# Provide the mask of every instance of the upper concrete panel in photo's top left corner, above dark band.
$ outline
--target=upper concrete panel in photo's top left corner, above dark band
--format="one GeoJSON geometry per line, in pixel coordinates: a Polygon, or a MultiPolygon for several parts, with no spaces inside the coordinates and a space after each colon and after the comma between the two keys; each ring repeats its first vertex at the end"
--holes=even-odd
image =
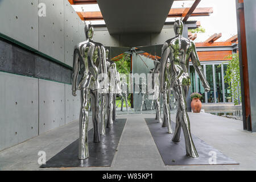
{"type": "Polygon", "coordinates": [[[1,0],[0,32],[38,49],[38,0],[1,0]]]}

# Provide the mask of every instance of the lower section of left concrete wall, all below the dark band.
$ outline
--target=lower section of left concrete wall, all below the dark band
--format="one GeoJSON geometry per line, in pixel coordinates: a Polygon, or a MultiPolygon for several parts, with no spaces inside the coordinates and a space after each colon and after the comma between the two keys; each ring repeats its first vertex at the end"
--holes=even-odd
{"type": "Polygon", "coordinates": [[[0,72],[0,150],[79,118],[71,85],[0,72]]]}

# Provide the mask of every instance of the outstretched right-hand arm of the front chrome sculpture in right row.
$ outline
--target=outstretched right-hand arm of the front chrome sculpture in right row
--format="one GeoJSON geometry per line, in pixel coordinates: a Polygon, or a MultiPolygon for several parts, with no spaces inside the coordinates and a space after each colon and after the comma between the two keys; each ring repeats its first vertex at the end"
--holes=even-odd
{"type": "Polygon", "coordinates": [[[192,41],[191,41],[191,48],[192,48],[191,60],[192,60],[193,67],[195,68],[197,74],[199,75],[199,78],[204,86],[205,92],[209,92],[210,86],[208,84],[207,79],[204,76],[203,68],[201,67],[200,60],[196,52],[195,43],[193,43],[192,41]]]}

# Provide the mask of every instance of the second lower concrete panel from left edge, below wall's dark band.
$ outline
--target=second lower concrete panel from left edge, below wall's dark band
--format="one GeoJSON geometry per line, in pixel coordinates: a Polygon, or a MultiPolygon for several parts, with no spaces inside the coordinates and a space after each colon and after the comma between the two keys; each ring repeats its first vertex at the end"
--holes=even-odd
{"type": "Polygon", "coordinates": [[[64,85],[39,79],[39,134],[65,124],[64,85]]]}

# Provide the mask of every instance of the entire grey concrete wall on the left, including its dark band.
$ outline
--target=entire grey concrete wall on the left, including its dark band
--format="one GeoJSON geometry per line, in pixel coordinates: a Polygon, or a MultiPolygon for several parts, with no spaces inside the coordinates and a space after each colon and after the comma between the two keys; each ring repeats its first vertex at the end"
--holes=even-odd
{"type": "Polygon", "coordinates": [[[68,0],[0,0],[0,25],[4,150],[79,118],[80,96],[68,83],[73,49],[85,35],[68,0]],[[46,16],[39,16],[44,5],[46,16]]]}

